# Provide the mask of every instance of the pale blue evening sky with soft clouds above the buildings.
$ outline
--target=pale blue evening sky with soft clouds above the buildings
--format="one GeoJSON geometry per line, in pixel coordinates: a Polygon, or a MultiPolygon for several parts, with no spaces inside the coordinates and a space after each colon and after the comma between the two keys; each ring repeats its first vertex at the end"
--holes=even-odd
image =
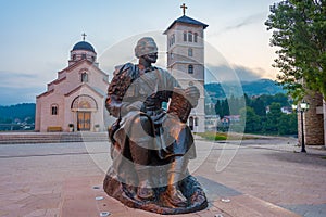
{"type": "MultiPolygon", "coordinates": [[[[0,0],[0,105],[35,102],[57,72],[67,66],[70,51],[83,33],[96,49],[100,68],[109,75],[113,64],[128,61],[116,52],[112,55],[124,41],[133,44],[140,36],[161,37],[159,49],[164,53],[162,34],[183,15],[183,3],[188,7],[187,16],[209,25],[205,42],[241,80],[276,79],[272,33],[264,25],[276,1],[0,0]]],[[[211,58],[205,56],[206,64],[218,67],[211,58]]]]}

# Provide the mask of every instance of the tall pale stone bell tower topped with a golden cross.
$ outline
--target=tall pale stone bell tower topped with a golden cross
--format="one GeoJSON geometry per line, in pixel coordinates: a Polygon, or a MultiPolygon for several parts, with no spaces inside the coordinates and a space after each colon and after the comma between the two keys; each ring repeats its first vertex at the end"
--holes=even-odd
{"type": "Polygon", "coordinates": [[[191,110],[188,125],[195,132],[205,130],[204,114],[204,23],[184,15],[175,20],[164,31],[167,36],[167,69],[183,88],[196,86],[200,91],[197,107],[191,110]]]}

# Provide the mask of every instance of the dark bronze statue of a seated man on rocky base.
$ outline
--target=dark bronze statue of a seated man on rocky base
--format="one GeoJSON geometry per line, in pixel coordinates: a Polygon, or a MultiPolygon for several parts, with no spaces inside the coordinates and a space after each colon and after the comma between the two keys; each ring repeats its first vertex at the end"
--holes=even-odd
{"type": "Polygon", "coordinates": [[[205,194],[187,169],[196,150],[186,122],[199,90],[181,89],[168,72],[152,66],[158,59],[152,38],[141,38],[135,54],[138,64],[117,66],[108,89],[105,106],[116,122],[109,127],[113,164],[103,188],[125,205],[145,210],[203,209],[205,194]]]}

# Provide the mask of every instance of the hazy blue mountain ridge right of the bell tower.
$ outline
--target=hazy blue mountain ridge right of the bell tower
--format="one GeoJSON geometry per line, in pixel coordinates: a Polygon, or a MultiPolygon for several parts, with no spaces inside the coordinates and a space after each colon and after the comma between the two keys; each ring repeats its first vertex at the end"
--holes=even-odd
{"type": "Polygon", "coordinates": [[[212,82],[205,85],[206,97],[212,100],[226,98],[226,95],[239,97],[239,94],[246,93],[249,97],[285,93],[286,91],[271,79],[259,79],[253,81],[242,81],[241,87],[233,82],[212,82]]]}

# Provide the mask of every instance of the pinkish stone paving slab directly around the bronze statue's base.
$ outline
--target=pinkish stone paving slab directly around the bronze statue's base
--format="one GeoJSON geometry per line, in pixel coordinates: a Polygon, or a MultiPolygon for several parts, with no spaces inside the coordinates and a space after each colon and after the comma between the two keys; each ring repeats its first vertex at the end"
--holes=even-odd
{"type": "MultiPolygon", "coordinates": [[[[203,178],[201,178],[203,179],[203,178]]],[[[112,217],[125,216],[162,216],[140,209],[129,208],[115,199],[105,194],[101,183],[102,177],[75,177],[70,178],[64,183],[63,203],[60,216],[100,216],[102,212],[109,212],[112,217]],[[93,187],[99,187],[95,189],[93,187]],[[97,200],[101,199],[102,200],[97,200]]],[[[215,182],[216,183],[216,182],[215,182]]],[[[241,194],[236,190],[228,189],[223,184],[206,186],[206,194],[209,197],[209,207],[204,210],[184,214],[184,215],[168,215],[168,216],[189,216],[189,217],[298,217],[299,215],[291,213],[283,207],[276,206],[272,203],[262,201],[252,195],[241,194]],[[213,189],[214,188],[214,189],[213,189]],[[227,189],[227,190],[226,190],[227,189]],[[216,192],[222,192],[216,195],[216,192]],[[225,197],[226,195],[229,195],[225,197]],[[217,197],[218,199],[217,199],[217,197]],[[212,200],[212,197],[215,197],[212,200]]]]}

